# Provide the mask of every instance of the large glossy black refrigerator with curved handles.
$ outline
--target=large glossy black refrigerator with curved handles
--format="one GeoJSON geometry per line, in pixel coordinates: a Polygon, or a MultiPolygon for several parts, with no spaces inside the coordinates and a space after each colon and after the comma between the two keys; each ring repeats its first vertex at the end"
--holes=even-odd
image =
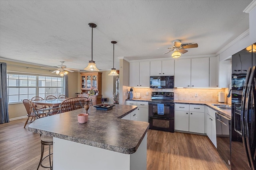
{"type": "Polygon", "coordinates": [[[256,43],[232,55],[232,170],[256,170],[255,84],[256,43]]]}

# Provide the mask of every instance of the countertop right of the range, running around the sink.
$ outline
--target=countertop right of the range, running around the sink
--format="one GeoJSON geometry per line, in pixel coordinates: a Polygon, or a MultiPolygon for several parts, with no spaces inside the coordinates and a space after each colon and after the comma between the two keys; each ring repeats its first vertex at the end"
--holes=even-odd
{"type": "Polygon", "coordinates": [[[211,109],[214,109],[215,111],[217,111],[218,113],[220,113],[221,115],[224,115],[226,117],[228,117],[229,119],[231,119],[231,110],[223,110],[223,109],[219,109],[216,106],[212,106],[212,104],[224,104],[224,105],[231,105],[228,103],[220,103],[220,102],[199,102],[199,101],[183,101],[183,100],[175,100],[174,101],[177,104],[198,104],[198,105],[206,105],[208,107],[210,107],[211,109]]]}

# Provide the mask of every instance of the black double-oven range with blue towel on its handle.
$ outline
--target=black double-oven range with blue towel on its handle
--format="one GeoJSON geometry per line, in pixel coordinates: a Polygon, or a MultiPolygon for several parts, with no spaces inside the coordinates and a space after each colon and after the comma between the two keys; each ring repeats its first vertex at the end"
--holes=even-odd
{"type": "Polygon", "coordinates": [[[148,122],[150,129],[174,132],[174,92],[152,92],[148,122]]]}

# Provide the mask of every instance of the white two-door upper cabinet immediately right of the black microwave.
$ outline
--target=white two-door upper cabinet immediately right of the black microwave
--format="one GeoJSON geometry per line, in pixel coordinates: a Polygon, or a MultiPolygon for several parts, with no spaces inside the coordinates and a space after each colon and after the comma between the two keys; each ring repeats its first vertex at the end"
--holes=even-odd
{"type": "Polygon", "coordinates": [[[209,87],[209,58],[175,61],[174,87],[209,87]]]}

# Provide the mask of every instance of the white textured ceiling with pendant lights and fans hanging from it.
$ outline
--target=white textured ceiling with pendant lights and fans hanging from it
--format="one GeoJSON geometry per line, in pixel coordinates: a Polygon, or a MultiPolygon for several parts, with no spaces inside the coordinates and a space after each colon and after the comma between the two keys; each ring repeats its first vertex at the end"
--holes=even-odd
{"type": "Polygon", "coordinates": [[[216,54],[249,29],[252,0],[1,0],[0,57],[83,70],[91,60],[110,70],[115,45],[128,60],[169,58],[180,39],[198,43],[182,57],[216,54]],[[158,49],[160,48],[160,49],[158,49]]]}

